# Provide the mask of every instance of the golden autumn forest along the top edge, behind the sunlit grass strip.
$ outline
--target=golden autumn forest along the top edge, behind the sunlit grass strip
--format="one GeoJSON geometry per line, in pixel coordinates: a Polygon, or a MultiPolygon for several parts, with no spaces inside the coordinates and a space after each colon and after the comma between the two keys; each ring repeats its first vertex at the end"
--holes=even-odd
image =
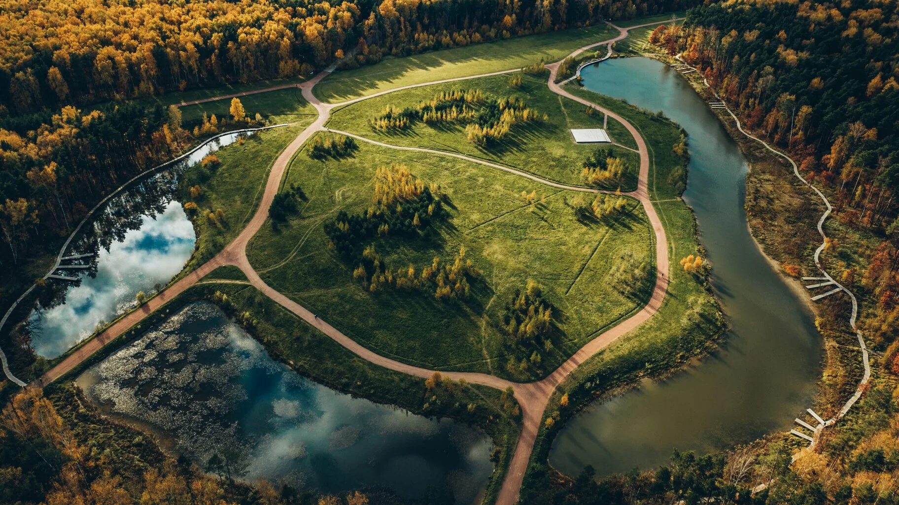
{"type": "Polygon", "coordinates": [[[0,106],[147,96],[311,75],[430,49],[554,31],[696,4],[693,0],[204,0],[0,3],[0,106]]]}

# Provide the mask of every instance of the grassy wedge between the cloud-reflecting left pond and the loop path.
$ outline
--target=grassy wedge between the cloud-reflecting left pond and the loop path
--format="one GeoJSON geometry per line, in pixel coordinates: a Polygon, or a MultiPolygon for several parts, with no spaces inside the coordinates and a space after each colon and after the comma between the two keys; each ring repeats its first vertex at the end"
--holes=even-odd
{"type": "Polygon", "coordinates": [[[178,186],[182,202],[196,203],[199,212],[191,217],[197,229],[196,251],[183,271],[209,261],[244,229],[262,198],[271,164],[303,128],[300,123],[263,130],[246,137],[243,145],[238,142],[215,153],[221,162],[218,169],[197,165],[184,173],[178,186]],[[196,198],[190,193],[194,185],[201,189],[196,198]],[[206,215],[219,208],[224,218],[216,224],[206,215]]]}

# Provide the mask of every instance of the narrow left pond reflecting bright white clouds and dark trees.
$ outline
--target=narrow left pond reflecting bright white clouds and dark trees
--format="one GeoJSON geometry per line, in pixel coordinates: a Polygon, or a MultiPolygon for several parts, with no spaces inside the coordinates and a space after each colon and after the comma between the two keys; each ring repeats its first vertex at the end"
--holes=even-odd
{"type": "Polygon", "coordinates": [[[74,261],[81,269],[54,273],[77,278],[49,279],[53,292],[29,316],[31,345],[44,358],[56,358],[168,284],[191,258],[196,235],[175,199],[178,175],[206,155],[246,133],[210,139],[190,155],[135,182],[94,213],[65,255],[93,254],[74,261]]]}

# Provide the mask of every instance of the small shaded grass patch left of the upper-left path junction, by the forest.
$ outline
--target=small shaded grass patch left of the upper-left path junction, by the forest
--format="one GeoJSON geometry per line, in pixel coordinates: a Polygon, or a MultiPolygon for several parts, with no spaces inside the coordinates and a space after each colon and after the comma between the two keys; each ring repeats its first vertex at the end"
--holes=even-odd
{"type": "MultiPolygon", "coordinates": [[[[312,122],[316,118],[316,108],[303,99],[298,88],[250,94],[240,97],[240,102],[244,104],[247,116],[252,118],[258,113],[263,119],[269,120],[270,124],[303,120],[312,122]]],[[[198,123],[203,112],[208,116],[215,114],[218,119],[227,118],[230,107],[230,99],[185,105],[181,108],[182,120],[188,126],[198,123]]]]}

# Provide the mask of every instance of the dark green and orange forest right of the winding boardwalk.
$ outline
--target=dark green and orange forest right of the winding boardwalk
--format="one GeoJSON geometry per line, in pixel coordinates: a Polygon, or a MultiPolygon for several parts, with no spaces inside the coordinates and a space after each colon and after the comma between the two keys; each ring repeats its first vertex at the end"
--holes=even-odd
{"type": "Polygon", "coordinates": [[[697,7],[683,29],[660,27],[651,40],[682,51],[746,127],[832,195],[837,223],[852,231],[828,247],[852,235],[866,243],[859,261],[836,267],[870,300],[863,327],[880,349],[899,336],[897,28],[895,3],[736,2],[697,7]]]}

